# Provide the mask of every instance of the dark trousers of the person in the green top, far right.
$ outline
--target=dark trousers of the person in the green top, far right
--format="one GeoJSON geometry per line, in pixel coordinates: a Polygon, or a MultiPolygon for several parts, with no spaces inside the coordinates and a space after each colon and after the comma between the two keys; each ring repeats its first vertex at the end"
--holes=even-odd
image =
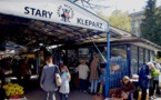
{"type": "Polygon", "coordinates": [[[157,81],[157,80],[152,80],[153,81],[153,86],[152,87],[150,87],[150,97],[152,97],[152,96],[154,96],[154,90],[157,89],[157,92],[159,93],[160,92],[160,90],[159,90],[159,81],[157,81]]]}

